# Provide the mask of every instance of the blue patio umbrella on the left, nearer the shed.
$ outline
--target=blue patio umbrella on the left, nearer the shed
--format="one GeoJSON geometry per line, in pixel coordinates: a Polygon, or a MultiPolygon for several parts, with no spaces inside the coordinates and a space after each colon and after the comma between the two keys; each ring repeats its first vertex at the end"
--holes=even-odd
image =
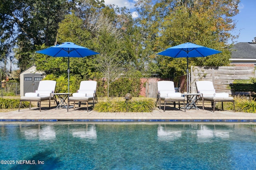
{"type": "Polygon", "coordinates": [[[89,55],[99,54],[95,51],[92,51],[86,47],[76,45],[75,43],[65,42],[61,45],[55,45],[36,51],[36,53],[41,53],[45,55],[50,55],[52,57],[68,57],[68,92],[69,92],[69,58],[70,57],[86,57],[89,55]]]}

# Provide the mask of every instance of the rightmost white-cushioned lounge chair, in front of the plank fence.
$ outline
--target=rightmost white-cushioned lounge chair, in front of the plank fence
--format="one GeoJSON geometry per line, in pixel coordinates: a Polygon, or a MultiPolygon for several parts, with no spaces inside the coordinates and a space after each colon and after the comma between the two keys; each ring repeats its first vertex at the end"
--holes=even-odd
{"type": "Polygon", "coordinates": [[[222,102],[222,110],[223,110],[223,102],[232,102],[235,111],[235,103],[234,98],[229,97],[228,93],[216,93],[213,83],[211,81],[197,81],[196,82],[196,90],[198,93],[202,94],[203,109],[204,109],[204,101],[212,102],[213,112],[215,110],[216,102],[222,102]]]}

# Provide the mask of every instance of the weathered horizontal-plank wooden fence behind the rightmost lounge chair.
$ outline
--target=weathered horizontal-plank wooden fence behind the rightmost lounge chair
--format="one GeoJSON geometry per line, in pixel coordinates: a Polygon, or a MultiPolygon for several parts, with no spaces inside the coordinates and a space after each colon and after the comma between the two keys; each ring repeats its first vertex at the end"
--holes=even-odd
{"type": "Polygon", "coordinates": [[[191,92],[196,93],[196,81],[209,80],[213,82],[216,92],[234,94],[230,88],[234,80],[248,80],[252,77],[255,77],[254,67],[220,66],[216,69],[206,69],[191,66],[191,92]]]}

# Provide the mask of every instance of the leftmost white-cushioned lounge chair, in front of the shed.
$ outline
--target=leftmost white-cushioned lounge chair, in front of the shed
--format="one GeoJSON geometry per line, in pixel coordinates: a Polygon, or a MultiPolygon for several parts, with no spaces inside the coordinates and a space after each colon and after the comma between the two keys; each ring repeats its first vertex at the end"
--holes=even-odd
{"type": "MultiPolygon", "coordinates": [[[[42,80],[39,82],[38,89],[35,92],[25,93],[25,96],[20,97],[21,102],[30,102],[29,109],[31,107],[31,102],[38,102],[38,107],[41,111],[41,102],[49,100],[49,109],[51,106],[51,100],[54,99],[52,93],[54,93],[56,87],[56,81],[54,80],[42,80]]],[[[20,111],[19,106],[19,111],[20,111]]]]}

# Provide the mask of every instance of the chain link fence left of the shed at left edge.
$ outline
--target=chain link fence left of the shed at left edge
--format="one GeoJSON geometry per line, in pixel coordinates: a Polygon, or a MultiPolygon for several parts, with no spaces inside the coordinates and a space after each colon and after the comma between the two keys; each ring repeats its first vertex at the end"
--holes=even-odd
{"type": "Polygon", "coordinates": [[[20,83],[7,83],[1,82],[1,94],[13,93],[15,95],[20,95],[20,83]]]}

